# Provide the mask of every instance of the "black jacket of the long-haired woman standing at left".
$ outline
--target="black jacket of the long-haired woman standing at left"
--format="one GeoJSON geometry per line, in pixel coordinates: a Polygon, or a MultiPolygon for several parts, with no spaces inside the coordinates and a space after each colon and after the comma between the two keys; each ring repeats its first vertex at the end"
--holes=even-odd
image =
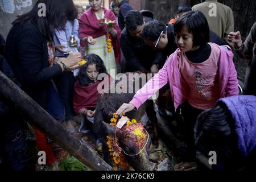
{"type": "Polygon", "coordinates": [[[61,73],[61,67],[49,67],[47,39],[35,23],[28,21],[11,28],[5,58],[24,92],[44,108],[51,79],[61,73]]]}

